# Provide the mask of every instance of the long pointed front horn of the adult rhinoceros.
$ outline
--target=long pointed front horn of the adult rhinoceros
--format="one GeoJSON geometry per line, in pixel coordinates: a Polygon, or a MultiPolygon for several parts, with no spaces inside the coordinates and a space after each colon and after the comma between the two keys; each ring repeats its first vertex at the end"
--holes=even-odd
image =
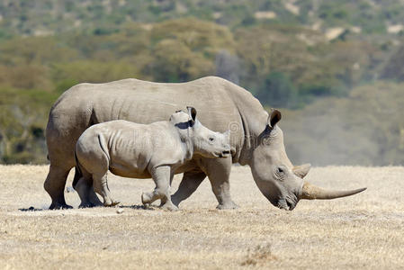
{"type": "Polygon", "coordinates": [[[322,189],[319,186],[310,184],[309,182],[304,182],[303,187],[301,188],[300,199],[306,199],[306,200],[337,199],[337,198],[341,198],[341,197],[354,195],[356,193],[361,193],[365,189],[366,189],[366,187],[355,189],[355,190],[349,190],[349,191],[332,191],[332,190],[322,189]]]}

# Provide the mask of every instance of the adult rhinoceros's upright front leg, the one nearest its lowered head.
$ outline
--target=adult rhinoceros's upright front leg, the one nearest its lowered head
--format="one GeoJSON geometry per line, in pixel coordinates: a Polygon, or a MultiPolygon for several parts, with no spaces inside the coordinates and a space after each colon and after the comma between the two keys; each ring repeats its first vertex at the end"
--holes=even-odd
{"type": "Polygon", "coordinates": [[[231,165],[231,157],[202,160],[202,166],[211,181],[211,190],[219,202],[217,208],[220,210],[238,208],[238,205],[231,200],[230,195],[229,177],[231,165]]]}

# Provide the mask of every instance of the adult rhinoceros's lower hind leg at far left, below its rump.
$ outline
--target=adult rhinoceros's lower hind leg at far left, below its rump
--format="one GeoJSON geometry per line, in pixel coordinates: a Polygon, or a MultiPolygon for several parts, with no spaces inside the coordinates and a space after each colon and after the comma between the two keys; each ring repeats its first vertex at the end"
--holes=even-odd
{"type": "Polygon", "coordinates": [[[52,199],[52,203],[49,206],[50,210],[73,208],[66,204],[64,193],[67,175],[70,169],[71,167],[49,166],[49,173],[43,187],[52,199]]]}

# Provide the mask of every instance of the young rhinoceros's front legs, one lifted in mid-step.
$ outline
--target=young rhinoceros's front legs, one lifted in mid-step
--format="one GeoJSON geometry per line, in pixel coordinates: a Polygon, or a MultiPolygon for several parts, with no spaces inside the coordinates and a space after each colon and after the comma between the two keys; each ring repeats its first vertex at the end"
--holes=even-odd
{"type": "Polygon", "coordinates": [[[161,200],[160,208],[168,211],[177,211],[178,207],[171,202],[170,194],[170,166],[158,166],[151,172],[151,176],[156,184],[156,188],[151,193],[142,193],[141,202],[148,206],[156,200],[161,200]]]}

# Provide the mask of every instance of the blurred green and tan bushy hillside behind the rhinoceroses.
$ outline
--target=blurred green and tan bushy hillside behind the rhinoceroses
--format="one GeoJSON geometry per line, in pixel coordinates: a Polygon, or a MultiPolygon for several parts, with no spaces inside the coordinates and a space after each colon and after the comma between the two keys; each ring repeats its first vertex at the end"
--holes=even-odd
{"type": "Polygon", "coordinates": [[[283,108],[293,162],[404,164],[404,2],[0,0],[0,163],[45,163],[70,86],[221,76],[283,108]]]}

